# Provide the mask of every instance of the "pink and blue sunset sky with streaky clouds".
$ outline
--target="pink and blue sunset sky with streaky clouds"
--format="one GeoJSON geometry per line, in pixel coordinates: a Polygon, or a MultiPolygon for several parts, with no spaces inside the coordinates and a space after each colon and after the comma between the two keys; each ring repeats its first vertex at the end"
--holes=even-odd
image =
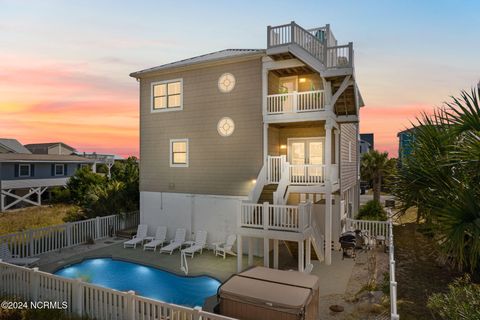
{"type": "Polygon", "coordinates": [[[361,132],[396,133],[480,80],[480,1],[2,1],[0,137],[138,155],[143,68],[265,48],[266,26],[330,23],[354,42],[361,132]]]}

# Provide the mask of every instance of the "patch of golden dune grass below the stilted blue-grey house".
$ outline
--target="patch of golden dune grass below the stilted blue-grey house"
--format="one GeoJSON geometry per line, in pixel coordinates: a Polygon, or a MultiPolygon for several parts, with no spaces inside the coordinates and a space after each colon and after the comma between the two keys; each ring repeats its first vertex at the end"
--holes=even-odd
{"type": "Polygon", "coordinates": [[[0,213],[0,236],[28,229],[63,224],[73,205],[55,204],[0,213]]]}

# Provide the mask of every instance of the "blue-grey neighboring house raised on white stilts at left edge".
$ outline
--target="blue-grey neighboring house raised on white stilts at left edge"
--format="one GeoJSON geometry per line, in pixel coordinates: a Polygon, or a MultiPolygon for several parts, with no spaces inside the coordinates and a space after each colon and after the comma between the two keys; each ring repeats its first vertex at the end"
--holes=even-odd
{"type": "Polygon", "coordinates": [[[91,160],[72,155],[0,153],[0,211],[17,204],[41,205],[42,194],[65,186],[91,160]]]}

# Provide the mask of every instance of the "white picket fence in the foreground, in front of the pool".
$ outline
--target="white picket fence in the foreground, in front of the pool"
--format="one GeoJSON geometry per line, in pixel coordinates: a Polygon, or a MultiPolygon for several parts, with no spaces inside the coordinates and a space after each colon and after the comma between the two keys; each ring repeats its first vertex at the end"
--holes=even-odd
{"type": "Polygon", "coordinates": [[[234,320],[202,311],[67,279],[0,261],[0,296],[20,301],[66,302],[66,312],[97,320],[234,320]]]}

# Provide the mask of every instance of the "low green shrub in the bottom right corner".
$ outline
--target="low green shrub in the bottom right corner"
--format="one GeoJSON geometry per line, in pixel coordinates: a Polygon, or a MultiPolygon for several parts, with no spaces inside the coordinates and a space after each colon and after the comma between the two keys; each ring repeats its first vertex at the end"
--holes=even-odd
{"type": "Polygon", "coordinates": [[[449,284],[448,292],[431,295],[427,306],[441,319],[480,319],[480,285],[465,275],[449,284]]]}

